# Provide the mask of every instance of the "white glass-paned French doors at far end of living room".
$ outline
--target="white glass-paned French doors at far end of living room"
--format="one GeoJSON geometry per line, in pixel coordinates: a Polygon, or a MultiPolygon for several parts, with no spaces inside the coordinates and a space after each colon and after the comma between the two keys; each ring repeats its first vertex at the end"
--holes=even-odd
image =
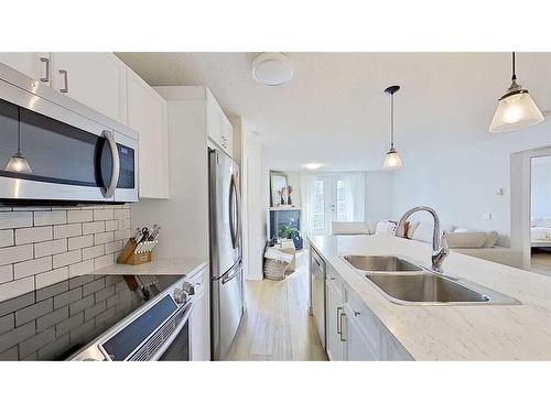
{"type": "Polygon", "coordinates": [[[332,221],[363,220],[365,200],[361,191],[346,175],[316,176],[313,182],[311,232],[326,236],[332,221]]]}

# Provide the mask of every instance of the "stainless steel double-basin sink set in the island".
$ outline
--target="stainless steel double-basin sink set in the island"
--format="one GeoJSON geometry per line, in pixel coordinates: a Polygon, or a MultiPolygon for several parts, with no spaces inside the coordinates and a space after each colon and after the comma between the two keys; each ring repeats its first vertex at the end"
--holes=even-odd
{"type": "Polygon", "coordinates": [[[345,256],[391,302],[409,305],[520,304],[497,291],[395,256],[345,256]]]}

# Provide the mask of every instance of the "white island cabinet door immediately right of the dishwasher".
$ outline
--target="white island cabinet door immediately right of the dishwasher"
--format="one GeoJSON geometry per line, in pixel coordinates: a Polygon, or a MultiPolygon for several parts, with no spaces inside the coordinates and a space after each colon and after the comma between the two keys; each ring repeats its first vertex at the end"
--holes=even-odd
{"type": "Polygon", "coordinates": [[[331,361],[345,360],[345,338],[343,337],[342,322],[344,318],[344,303],[342,283],[328,269],[326,281],[326,351],[331,361]]]}

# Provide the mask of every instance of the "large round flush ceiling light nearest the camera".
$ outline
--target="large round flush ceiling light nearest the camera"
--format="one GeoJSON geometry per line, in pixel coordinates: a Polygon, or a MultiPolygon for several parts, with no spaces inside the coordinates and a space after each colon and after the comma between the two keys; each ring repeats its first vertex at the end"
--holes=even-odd
{"type": "Polygon", "coordinates": [[[284,85],[293,78],[291,59],[283,53],[262,53],[252,62],[252,77],[266,86],[284,85]]]}

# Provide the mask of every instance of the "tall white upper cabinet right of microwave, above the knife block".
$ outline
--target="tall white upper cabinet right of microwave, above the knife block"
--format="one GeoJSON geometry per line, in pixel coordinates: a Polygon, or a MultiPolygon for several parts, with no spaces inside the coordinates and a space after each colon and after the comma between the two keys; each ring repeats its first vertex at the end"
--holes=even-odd
{"type": "Polygon", "coordinates": [[[166,101],[127,68],[128,126],[140,133],[140,197],[169,198],[166,101]]]}

